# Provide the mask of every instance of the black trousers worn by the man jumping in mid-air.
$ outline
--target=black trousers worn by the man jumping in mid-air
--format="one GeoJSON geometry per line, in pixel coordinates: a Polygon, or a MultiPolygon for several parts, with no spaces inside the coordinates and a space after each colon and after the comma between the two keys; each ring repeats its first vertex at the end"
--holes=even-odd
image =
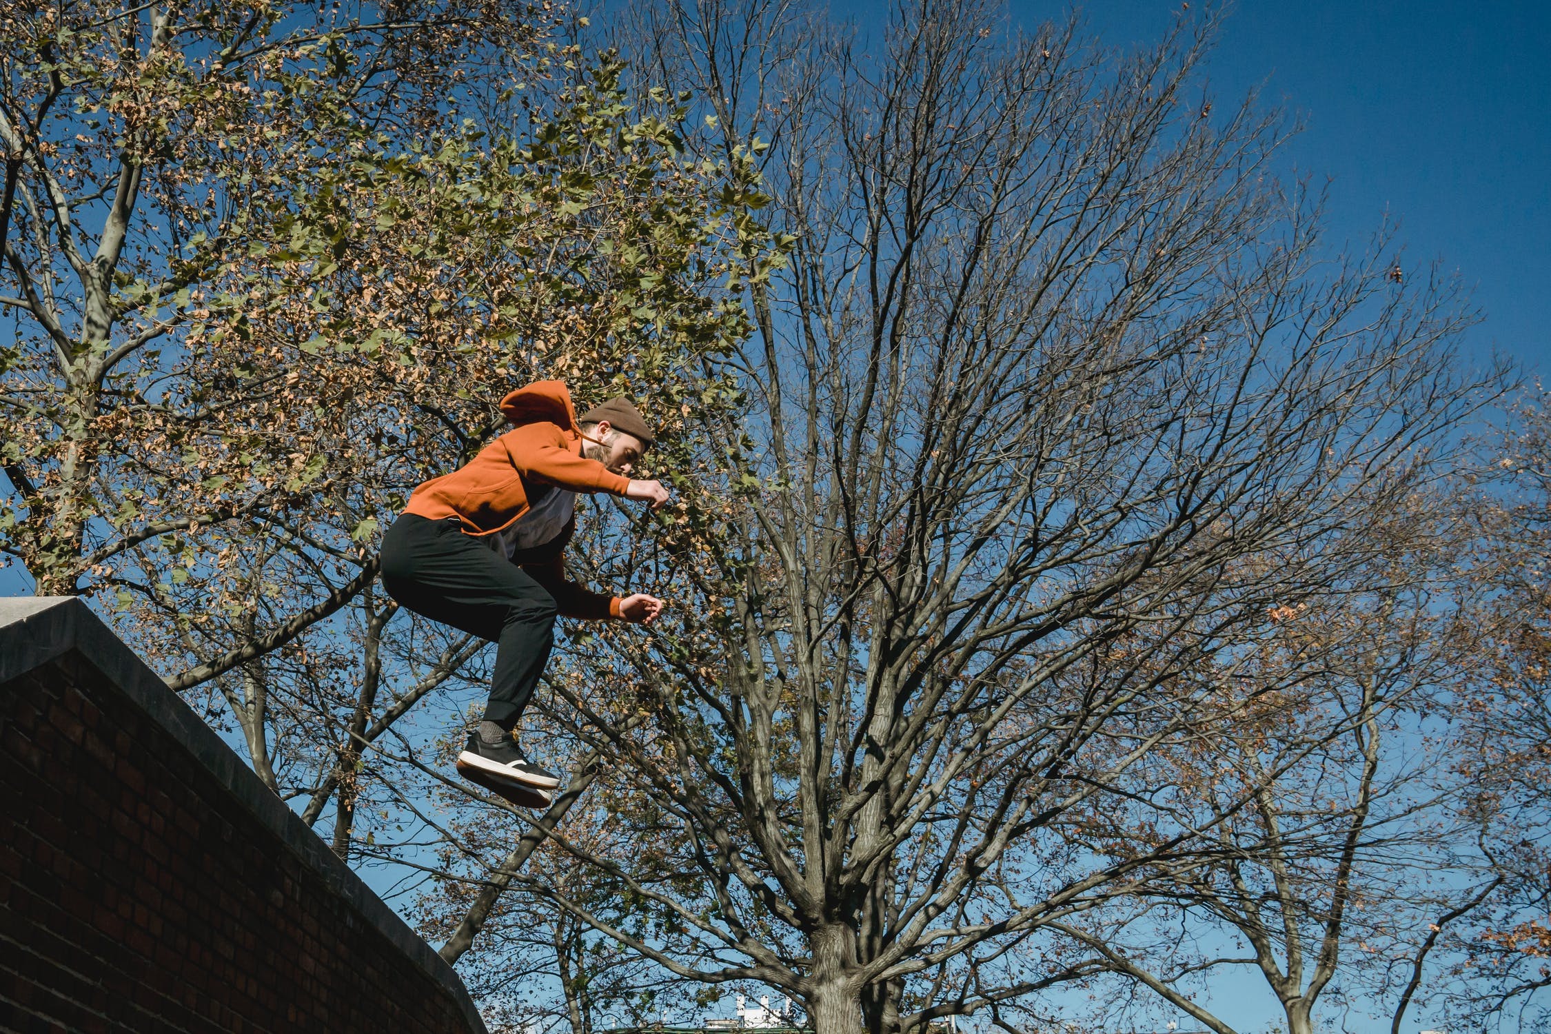
{"type": "Polygon", "coordinates": [[[388,595],[433,622],[496,643],[485,721],[513,724],[527,707],[554,645],[555,600],[521,567],[458,521],[405,513],[383,535],[388,595]]]}

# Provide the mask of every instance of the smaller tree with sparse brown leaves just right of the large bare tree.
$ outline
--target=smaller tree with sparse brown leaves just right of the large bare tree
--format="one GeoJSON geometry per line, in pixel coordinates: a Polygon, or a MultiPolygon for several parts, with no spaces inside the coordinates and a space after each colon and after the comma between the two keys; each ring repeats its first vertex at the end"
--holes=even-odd
{"type": "Polygon", "coordinates": [[[1174,758],[1219,857],[1059,924],[1124,986],[1233,1034],[1211,991],[1258,974],[1289,1034],[1318,1029],[1325,997],[1326,1015],[1388,1008],[1399,1031],[1424,974],[1447,970],[1439,933],[1500,885],[1459,764],[1492,629],[1487,584],[1458,563],[1469,512],[1418,496],[1385,529],[1388,570],[1325,612],[1270,615],[1245,673],[1258,702],[1174,758]]]}

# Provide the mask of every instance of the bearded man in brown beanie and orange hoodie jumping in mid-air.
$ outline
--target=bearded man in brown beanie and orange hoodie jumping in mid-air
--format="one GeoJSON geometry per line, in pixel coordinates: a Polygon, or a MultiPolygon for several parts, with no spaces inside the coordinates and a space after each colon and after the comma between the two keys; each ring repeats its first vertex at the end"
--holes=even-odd
{"type": "Polygon", "coordinates": [[[575,495],[608,491],[656,510],[668,493],[628,477],[655,436],[625,398],[577,420],[563,381],[537,381],[503,398],[501,412],[510,431],[409,495],[383,536],[382,581],[416,614],[496,643],[490,701],[458,770],[509,800],[548,805],[560,777],[529,761],[512,730],[549,660],[555,615],[650,625],[662,611],[656,597],[611,597],[566,578],[575,495]]]}

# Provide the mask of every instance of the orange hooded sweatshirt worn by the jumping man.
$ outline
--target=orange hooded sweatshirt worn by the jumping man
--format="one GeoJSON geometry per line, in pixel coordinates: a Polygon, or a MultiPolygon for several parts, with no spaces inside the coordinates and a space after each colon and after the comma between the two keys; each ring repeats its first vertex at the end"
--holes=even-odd
{"type": "MultiPolygon", "coordinates": [[[[459,518],[464,535],[495,535],[527,513],[530,484],[571,491],[625,495],[630,479],[582,456],[582,428],[565,381],[534,381],[501,400],[515,428],[485,445],[450,474],[433,477],[409,493],[405,513],[442,521],[459,518]]],[[[560,543],[571,538],[568,526],[560,543]]],[[[619,597],[589,592],[565,577],[557,549],[523,569],[544,586],[566,617],[619,617],[619,597]]]]}

